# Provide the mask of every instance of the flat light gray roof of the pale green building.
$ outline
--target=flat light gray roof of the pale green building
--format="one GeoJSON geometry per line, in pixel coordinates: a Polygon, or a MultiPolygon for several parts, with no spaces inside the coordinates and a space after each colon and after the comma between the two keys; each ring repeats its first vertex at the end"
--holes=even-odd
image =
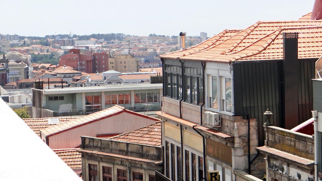
{"type": "MultiPolygon", "coordinates": [[[[66,87],[63,89],[43,89],[43,94],[68,94],[80,92],[103,92],[103,91],[124,91],[124,90],[147,90],[162,89],[162,83],[125,83],[125,84],[104,84],[90,87],[66,87]]],[[[34,88],[33,88],[34,89],[34,88]]],[[[38,90],[38,89],[36,89],[38,90]]]]}

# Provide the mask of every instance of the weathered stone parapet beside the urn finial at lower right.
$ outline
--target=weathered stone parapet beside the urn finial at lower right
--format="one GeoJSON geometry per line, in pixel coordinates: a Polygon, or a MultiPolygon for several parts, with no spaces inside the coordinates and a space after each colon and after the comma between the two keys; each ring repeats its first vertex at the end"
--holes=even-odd
{"type": "Polygon", "coordinates": [[[311,135],[275,126],[264,126],[264,130],[266,146],[314,160],[314,139],[311,135]]]}

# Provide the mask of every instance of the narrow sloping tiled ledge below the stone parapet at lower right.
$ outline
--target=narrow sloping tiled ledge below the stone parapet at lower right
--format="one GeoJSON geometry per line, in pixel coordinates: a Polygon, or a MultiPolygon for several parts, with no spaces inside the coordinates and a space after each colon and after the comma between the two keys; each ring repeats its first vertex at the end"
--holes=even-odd
{"type": "Polygon", "coordinates": [[[278,157],[282,157],[284,159],[287,159],[289,161],[293,161],[305,166],[309,166],[309,165],[314,165],[314,160],[309,160],[303,157],[299,157],[297,155],[293,155],[284,151],[280,151],[278,149],[275,148],[270,148],[268,146],[262,146],[262,147],[258,147],[257,148],[260,152],[264,152],[266,154],[270,154],[270,155],[274,155],[274,156],[278,156],[278,157]]]}

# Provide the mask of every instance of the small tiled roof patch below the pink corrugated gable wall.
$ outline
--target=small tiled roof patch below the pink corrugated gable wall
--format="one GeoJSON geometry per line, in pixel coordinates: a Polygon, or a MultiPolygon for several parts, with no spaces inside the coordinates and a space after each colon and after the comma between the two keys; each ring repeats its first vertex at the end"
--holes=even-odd
{"type": "Polygon", "coordinates": [[[62,159],[71,169],[81,168],[81,153],[79,148],[53,149],[58,157],[62,159]]]}

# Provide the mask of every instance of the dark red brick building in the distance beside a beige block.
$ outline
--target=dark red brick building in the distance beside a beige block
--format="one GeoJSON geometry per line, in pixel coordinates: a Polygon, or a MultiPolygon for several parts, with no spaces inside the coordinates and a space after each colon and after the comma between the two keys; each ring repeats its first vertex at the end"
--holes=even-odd
{"type": "Polygon", "coordinates": [[[59,60],[59,65],[71,66],[75,70],[96,73],[108,71],[109,69],[109,54],[105,51],[92,53],[80,52],[79,49],[71,49],[66,55],[62,55],[59,60]]]}

